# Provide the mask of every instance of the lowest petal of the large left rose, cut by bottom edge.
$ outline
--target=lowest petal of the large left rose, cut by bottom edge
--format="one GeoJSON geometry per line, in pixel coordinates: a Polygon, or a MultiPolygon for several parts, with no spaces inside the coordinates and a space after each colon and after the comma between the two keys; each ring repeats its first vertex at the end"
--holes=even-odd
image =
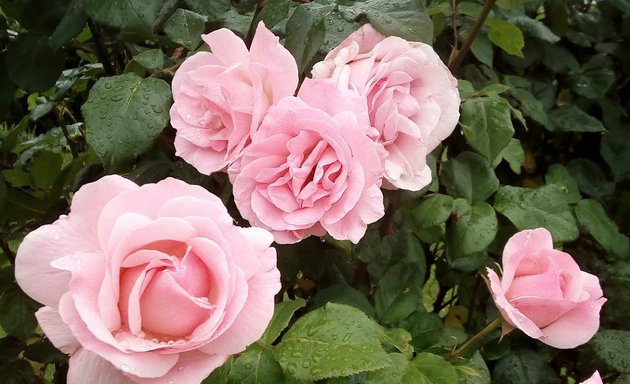
{"type": "Polygon", "coordinates": [[[133,384],[122,371],[94,352],[79,349],[70,357],[68,384],[133,384]]]}

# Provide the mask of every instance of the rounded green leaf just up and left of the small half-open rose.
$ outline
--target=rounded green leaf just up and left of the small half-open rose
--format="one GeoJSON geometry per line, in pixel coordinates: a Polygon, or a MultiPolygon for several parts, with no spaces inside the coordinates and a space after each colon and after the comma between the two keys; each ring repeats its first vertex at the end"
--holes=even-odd
{"type": "Polygon", "coordinates": [[[470,205],[457,199],[446,229],[446,250],[452,258],[481,252],[494,240],[497,228],[497,216],[490,204],[478,201],[470,205]]]}

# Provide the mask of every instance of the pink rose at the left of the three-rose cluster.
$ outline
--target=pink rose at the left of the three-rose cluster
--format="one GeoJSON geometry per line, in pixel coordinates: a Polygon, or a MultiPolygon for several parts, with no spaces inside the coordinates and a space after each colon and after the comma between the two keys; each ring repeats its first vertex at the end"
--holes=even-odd
{"type": "Polygon", "coordinates": [[[293,95],[295,59],[258,24],[250,50],[228,29],[202,36],[212,53],[187,58],[173,78],[171,124],[177,155],[210,174],[236,159],[270,105],[293,95]]]}

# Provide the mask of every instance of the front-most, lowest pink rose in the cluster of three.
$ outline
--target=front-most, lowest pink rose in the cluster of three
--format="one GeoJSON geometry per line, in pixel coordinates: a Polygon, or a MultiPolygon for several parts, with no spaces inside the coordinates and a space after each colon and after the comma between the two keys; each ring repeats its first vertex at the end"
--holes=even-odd
{"type": "Polygon", "coordinates": [[[383,153],[366,134],[365,102],[328,80],[306,79],[298,97],[269,109],[228,169],[236,205],[279,243],[326,232],[357,243],[384,214],[383,153]]]}

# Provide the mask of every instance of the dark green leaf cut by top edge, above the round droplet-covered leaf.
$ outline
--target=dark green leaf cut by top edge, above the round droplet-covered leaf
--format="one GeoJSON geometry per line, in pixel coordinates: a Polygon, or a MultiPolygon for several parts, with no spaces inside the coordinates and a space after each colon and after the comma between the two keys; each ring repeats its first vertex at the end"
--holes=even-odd
{"type": "Polygon", "coordinates": [[[150,37],[164,0],[84,0],[84,3],[85,12],[97,23],[150,37]]]}

